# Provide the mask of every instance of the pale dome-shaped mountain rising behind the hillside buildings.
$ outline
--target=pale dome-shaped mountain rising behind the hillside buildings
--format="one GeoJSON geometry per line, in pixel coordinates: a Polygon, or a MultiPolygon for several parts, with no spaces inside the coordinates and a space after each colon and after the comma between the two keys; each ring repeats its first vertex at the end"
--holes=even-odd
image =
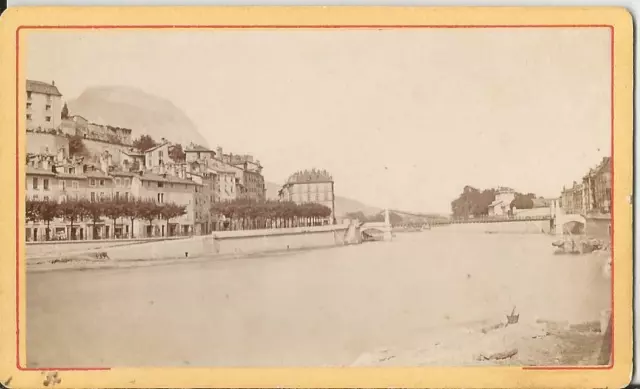
{"type": "Polygon", "coordinates": [[[90,122],[130,128],[134,138],[148,134],[156,140],[166,138],[183,145],[194,142],[208,147],[195,124],[178,107],[137,88],[87,88],[67,106],[70,115],[80,115],[90,122]]]}

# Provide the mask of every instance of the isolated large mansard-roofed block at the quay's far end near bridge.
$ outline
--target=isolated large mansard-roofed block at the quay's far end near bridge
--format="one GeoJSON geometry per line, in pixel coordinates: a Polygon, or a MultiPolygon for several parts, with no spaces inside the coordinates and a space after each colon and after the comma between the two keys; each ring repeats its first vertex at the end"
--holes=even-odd
{"type": "Polygon", "coordinates": [[[296,204],[317,203],[331,209],[330,222],[335,222],[333,177],[326,170],[305,170],[292,174],[279,193],[282,201],[296,204]]]}

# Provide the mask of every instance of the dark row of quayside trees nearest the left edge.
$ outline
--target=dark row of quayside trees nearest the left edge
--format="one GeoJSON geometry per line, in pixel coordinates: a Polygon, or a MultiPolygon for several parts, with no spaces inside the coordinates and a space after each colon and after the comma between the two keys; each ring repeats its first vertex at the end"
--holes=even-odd
{"type": "Polygon", "coordinates": [[[103,217],[112,220],[114,234],[116,220],[119,218],[129,219],[131,221],[131,237],[134,237],[133,223],[135,220],[146,220],[149,225],[152,225],[154,220],[162,218],[167,221],[167,231],[169,231],[169,221],[187,212],[185,206],[141,199],[130,201],[109,199],[97,202],[85,199],[68,199],[60,203],[52,200],[27,200],[25,211],[28,222],[44,222],[46,224],[46,240],[51,239],[50,224],[56,218],[64,219],[70,223],[71,236],[68,239],[75,238],[74,225],[84,221],[92,222],[95,236],[97,224],[102,222],[103,217]]]}

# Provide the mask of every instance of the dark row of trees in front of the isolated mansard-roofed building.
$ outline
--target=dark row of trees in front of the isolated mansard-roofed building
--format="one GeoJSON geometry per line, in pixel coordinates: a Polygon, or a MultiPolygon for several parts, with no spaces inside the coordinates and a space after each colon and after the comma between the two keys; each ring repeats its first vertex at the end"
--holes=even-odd
{"type": "Polygon", "coordinates": [[[232,229],[284,228],[326,223],[331,209],[322,204],[236,199],[215,203],[213,215],[223,215],[232,229]]]}

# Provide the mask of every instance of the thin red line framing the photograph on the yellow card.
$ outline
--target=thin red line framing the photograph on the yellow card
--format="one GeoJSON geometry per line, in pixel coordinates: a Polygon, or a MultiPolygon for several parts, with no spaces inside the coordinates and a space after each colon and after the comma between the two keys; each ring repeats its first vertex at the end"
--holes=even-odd
{"type": "MultiPolygon", "coordinates": [[[[16,366],[22,371],[95,371],[111,370],[109,367],[88,368],[27,368],[20,365],[20,120],[19,120],[19,70],[20,70],[20,30],[56,30],[56,29],[474,29],[474,28],[609,28],[611,31],[611,164],[614,157],[614,26],[610,24],[521,24],[521,25],[24,25],[16,29],[16,366]]],[[[611,169],[611,360],[607,366],[526,366],[523,370],[609,370],[614,366],[614,170],[611,169]]]]}

